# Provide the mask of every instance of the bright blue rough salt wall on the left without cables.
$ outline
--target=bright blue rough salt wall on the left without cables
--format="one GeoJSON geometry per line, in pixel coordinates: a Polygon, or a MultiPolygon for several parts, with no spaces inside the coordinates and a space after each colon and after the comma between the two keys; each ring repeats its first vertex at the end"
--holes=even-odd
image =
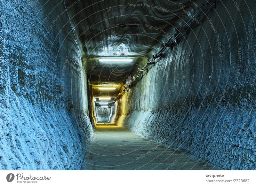
{"type": "Polygon", "coordinates": [[[65,5],[46,2],[0,0],[0,169],[80,169],[92,136],[65,5]]]}

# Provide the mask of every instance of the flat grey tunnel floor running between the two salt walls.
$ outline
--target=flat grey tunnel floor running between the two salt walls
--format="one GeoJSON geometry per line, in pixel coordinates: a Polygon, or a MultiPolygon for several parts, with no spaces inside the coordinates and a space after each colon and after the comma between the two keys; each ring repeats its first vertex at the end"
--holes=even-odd
{"type": "Polygon", "coordinates": [[[116,125],[97,125],[82,170],[212,170],[206,161],[116,125]]]}

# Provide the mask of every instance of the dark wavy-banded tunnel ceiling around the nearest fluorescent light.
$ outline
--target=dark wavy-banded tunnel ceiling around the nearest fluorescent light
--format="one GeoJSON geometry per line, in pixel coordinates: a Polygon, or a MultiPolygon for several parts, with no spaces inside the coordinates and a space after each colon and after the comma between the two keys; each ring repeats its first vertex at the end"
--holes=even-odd
{"type": "MultiPolygon", "coordinates": [[[[194,1],[195,2],[195,1],[194,1]]],[[[68,7],[73,0],[66,2],[68,7]]],[[[123,85],[129,76],[155,54],[161,42],[188,16],[178,7],[180,1],[88,1],[73,6],[71,20],[78,32],[84,66],[91,85],[123,85]],[[141,4],[134,7],[128,4],[141,4]],[[146,6],[145,4],[148,4],[146,6]],[[158,10],[157,7],[160,7],[158,10]],[[163,10],[165,9],[165,10],[163,10]],[[180,17],[180,18],[179,18],[180,17]],[[145,27],[145,24],[156,29],[145,27]],[[157,30],[157,28],[159,28],[157,30]],[[161,32],[163,29],[164,32],[161,32]],[[99,57],[124,53],[136,57],[132,64],[102,64],[99,57]]],[[[195,7],[191,1],[182,1],[195,7]]],[[[193,8],[191,9],[193,12],[193,8]]]]}

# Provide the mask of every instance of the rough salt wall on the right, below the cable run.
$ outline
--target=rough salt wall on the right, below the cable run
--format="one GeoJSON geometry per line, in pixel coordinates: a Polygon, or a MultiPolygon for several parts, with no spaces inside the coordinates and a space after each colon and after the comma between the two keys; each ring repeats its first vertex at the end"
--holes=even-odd
{"type": "Polygon", "coordinates": [[[119,101],[119,125],[167,139],[214,168],[255,169],[255,10],[251,1],[236,2],[243,11],[218,1],[207,14],[217,33],[205,18],[156,60],[119,101]]]}

